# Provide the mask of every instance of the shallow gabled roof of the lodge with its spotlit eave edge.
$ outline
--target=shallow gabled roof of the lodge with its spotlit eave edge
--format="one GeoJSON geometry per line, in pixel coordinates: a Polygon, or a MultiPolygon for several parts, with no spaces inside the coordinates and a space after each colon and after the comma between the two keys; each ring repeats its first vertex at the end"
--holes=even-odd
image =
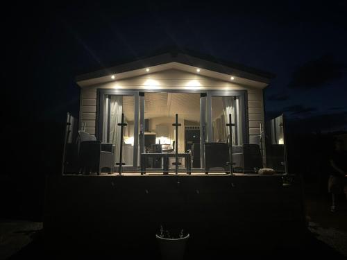
{"type": "Polygon", "coordinates": [[[110,76],[112,75],[116,77],[116,80],[121,80],[149,73],[146,71],[147,68],[150,69],[150,73],[167,69],[180,69],[196,73],[196,69],[200,69],[199,74],[201,76],[226,81],[230,81],[230,77],[233,76],[235,77],[234,83],[260,88],[269,85],[271,78],[274,78],[272,73],[246,67],[242,64],[217,60],[210,55],[175,49],[77,76],[76,83],[80,87],[107,83],[111,81],[110,76]]]}

